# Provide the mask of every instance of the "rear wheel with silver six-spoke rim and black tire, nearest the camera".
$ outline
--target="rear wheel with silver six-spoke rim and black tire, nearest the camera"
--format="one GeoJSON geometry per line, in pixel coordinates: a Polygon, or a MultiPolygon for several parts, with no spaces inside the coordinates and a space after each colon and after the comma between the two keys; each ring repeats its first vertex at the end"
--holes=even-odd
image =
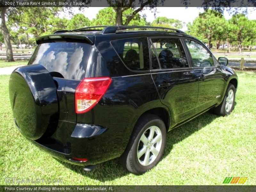
{"type": "Polygon", "coordinates": [[[164,153],[165,124],[158,116],[147,114],[138,120],[120,162],[128,171],[142,174],[154,167],[164,153]]]}

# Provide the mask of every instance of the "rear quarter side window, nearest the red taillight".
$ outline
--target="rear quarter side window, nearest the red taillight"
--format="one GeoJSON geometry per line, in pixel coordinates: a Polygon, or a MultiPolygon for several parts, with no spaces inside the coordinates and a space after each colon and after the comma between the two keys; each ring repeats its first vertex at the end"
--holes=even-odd
{"type": "Polygon", "coordinates": [[[111,45],[131,70],[149,70],[149,53],[147,38],[130,38],[111,41],[111,45]]]}

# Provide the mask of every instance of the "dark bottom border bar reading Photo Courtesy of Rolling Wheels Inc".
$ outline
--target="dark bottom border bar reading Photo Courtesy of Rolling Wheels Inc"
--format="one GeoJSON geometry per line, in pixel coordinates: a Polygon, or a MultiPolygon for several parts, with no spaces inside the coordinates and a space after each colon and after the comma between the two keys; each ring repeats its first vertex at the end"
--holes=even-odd
{"type": "Polygon", "coordinates": [[[243,184],[230,185],[226,184],[223,186],[206,186],[206,185],[186,185],[186,186],[155,186],[155,185],[143,185],[143,186],[118,186],[118,185],[106,185],[106,186],[81,186],[81,185],[2,185],[0,186],[1,192],[183,192],[183,191],[216,191],[216,192],[233,192],[233,191],[256,191],[256,186],[248,186],[243,184]]]}

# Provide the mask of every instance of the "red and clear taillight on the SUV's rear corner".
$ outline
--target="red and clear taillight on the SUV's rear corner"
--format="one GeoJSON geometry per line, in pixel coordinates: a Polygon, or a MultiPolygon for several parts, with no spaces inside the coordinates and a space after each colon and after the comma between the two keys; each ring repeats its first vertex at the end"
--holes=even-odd
{"type": "Polygon", "coordinates": [[[111,84],[110,77],[84,78],[76,87],[76,113],[85,113],[101,99],[111,84]]]}

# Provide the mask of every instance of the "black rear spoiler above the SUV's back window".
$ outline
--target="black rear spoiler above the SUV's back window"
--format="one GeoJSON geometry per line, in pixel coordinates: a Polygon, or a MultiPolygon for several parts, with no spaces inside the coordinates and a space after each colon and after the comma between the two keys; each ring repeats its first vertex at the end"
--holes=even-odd
{"type": "Polygon", "coordinates": [[[84,36],[84,34],[53,34],[41,36],[36,39],[36,44],[41,44],[47,40],[61,40],[61,39],[74,39],[80,41],[86,41],[87,43],[93,45],[94,44],[94,36],[84,36]]]}

